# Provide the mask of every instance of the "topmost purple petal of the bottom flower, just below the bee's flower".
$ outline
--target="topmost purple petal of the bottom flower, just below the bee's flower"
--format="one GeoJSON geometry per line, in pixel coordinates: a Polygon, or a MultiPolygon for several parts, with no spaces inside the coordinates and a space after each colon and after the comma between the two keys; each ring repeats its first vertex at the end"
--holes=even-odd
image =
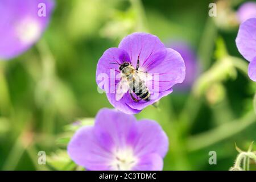
{"type": "Polygon", "coordinates": [[[112,146],[119,148],[126,146],[129,134],[136,125],[136,118],[133,115],[113,109],[101,109],[95,120],[95,133],[104,139],[102,143],[111,143],[112,146]],[[106,139],[111,142],[106,142],[106,139]]]}

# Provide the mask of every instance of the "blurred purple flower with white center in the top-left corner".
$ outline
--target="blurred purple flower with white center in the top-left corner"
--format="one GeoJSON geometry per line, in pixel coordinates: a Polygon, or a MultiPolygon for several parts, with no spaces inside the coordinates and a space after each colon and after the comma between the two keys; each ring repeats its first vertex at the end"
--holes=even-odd
{"type": "Polygon", "coordinates": [[[47,27],[52,0],[0,1],[0,59],[27,51],[47,27]]]}

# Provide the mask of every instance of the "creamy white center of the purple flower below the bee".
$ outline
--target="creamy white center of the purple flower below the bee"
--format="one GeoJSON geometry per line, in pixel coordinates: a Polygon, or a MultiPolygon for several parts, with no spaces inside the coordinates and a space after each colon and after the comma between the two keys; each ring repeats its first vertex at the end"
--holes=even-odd
{"type": "Polygon", "coordinates": [[[132,148],[115,150],[114,158],[110,166],[114,171],[130,171],[138,162],[132,148]]]}

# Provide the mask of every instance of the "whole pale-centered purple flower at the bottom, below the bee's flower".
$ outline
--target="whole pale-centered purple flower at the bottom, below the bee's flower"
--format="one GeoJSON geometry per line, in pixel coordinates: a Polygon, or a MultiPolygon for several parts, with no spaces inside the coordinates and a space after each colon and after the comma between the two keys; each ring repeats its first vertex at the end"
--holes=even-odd
{"type": "Polygon", "coordinates": [[[88,170],[163,169],[168,138],[155,121],[101,109],[94,126],[82,127],[68,144],[68,154],[88,170]]]}

